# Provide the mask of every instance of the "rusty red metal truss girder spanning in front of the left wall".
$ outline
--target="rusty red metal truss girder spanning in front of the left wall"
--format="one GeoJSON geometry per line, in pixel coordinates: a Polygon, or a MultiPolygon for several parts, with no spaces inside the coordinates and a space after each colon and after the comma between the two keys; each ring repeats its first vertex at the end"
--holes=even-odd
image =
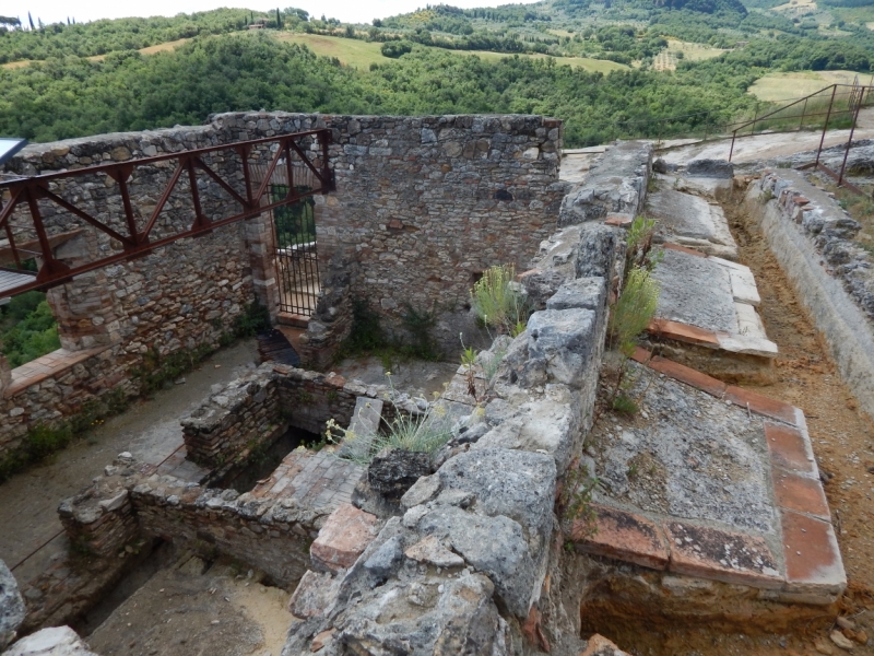
{"type": "Polygon", "coordinates": [[[328,163],[330,141],[330,130],[310,130],[0,180],[0,234],[5,234],[3,248],[11,251],[10,259],[15,263],[15,268],[0,267],[0,271],[17,274],[0,288],[0,297],[63,284],[76,274],[143,257],[179,239],[209,234],[215,227],[316,194],[328,194],[334,189],[333,171],[328,163]],[[253,168],[264,161],[268,163],[260,176],[262,181],[256,184],[253,168]],[[312,186],[291,185],[284,197],[271,197],[269,183],[281,164],[286,169],[285,179],[294,179],[294,168],[304,167],[312,186]],[[76,194],[79,185],[70,185],[71,178],[85,178],[74,180],[85,186],[113,187],[119,202],[113,207],[108,199],[91,202],[76,194]],[[156,203],[134,207],[131,189],[158,178],[165,181],[160,183],[156,203]],[[223,190],[222,202],[202,195],[200,189],[208,187],[223,190]],[[189,209],[180,213],[180,201],[186,197],[189,209]],[[149,213],[141,215],[144,210],[149,213]],[[118,247],[73,266],[57,259],[54,239],[72,227],[82,227],[73,225],[76,220],[88,230],[103,233],[103,238],[108,236],[118,247]],[[36,260],[35,274],[26,270],[27,260],[36,260]]]}

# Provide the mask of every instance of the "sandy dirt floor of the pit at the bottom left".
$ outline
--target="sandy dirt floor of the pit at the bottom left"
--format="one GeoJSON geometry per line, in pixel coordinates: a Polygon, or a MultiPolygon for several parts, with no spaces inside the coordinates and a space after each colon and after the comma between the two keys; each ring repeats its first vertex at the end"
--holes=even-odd
{"type": "Polygon", "coordinates": [[[102,656],[279,656],[288,593],[190,553],[158,570],[86,637],[102,656]]]}

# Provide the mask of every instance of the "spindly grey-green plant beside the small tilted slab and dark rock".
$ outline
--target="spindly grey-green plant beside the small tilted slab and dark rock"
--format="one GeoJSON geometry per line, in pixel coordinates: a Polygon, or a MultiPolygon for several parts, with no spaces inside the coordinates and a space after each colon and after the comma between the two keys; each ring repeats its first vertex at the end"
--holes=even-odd
{"type": "Polygon", "coordinates": [[[414,414],[399,407],[393,400],[395,393],[391,372],[386,372],[386,376],[391,387],[391,391],[386,394],[386,400],[394,406],[394,419],[388,423],[385,433],[367,435],[358,435],[342,427],[333,419],[328,420],[324,437],[329,443],[338,445],[338,458],[367,466],[383,448],[433,454],[452,437],[447,422],[440,421],[445,411],[429,407],[425,412],[414,414]]]}

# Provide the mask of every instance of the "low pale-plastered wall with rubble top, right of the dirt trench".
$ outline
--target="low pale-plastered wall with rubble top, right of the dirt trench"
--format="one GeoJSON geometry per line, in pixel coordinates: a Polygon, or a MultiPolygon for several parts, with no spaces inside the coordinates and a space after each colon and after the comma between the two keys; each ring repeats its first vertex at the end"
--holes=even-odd
{"type": "Polygon", "coordinates": [[[751,183],[744,208],[825,336],[841,377],[874,414],[874,258],[853,241],[859,223],[791,169],[751,183]]]}

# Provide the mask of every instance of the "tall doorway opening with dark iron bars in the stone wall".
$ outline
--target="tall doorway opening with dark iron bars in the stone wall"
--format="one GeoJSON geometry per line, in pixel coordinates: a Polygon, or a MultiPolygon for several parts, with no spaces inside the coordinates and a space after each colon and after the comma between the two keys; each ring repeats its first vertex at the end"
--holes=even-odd
{"type": "MultiPolygon", "coordinates": [[[[297,186],[298,192],[310,187],[297,186]]],[[[287,185],[271,185],[271,201],[288,194],[287,185]]],[[[273,210],[276,276],[280,313],[312,316],[319,294],[319,260],[316,250],[315,200],[302,201],[273,210]]]]}

